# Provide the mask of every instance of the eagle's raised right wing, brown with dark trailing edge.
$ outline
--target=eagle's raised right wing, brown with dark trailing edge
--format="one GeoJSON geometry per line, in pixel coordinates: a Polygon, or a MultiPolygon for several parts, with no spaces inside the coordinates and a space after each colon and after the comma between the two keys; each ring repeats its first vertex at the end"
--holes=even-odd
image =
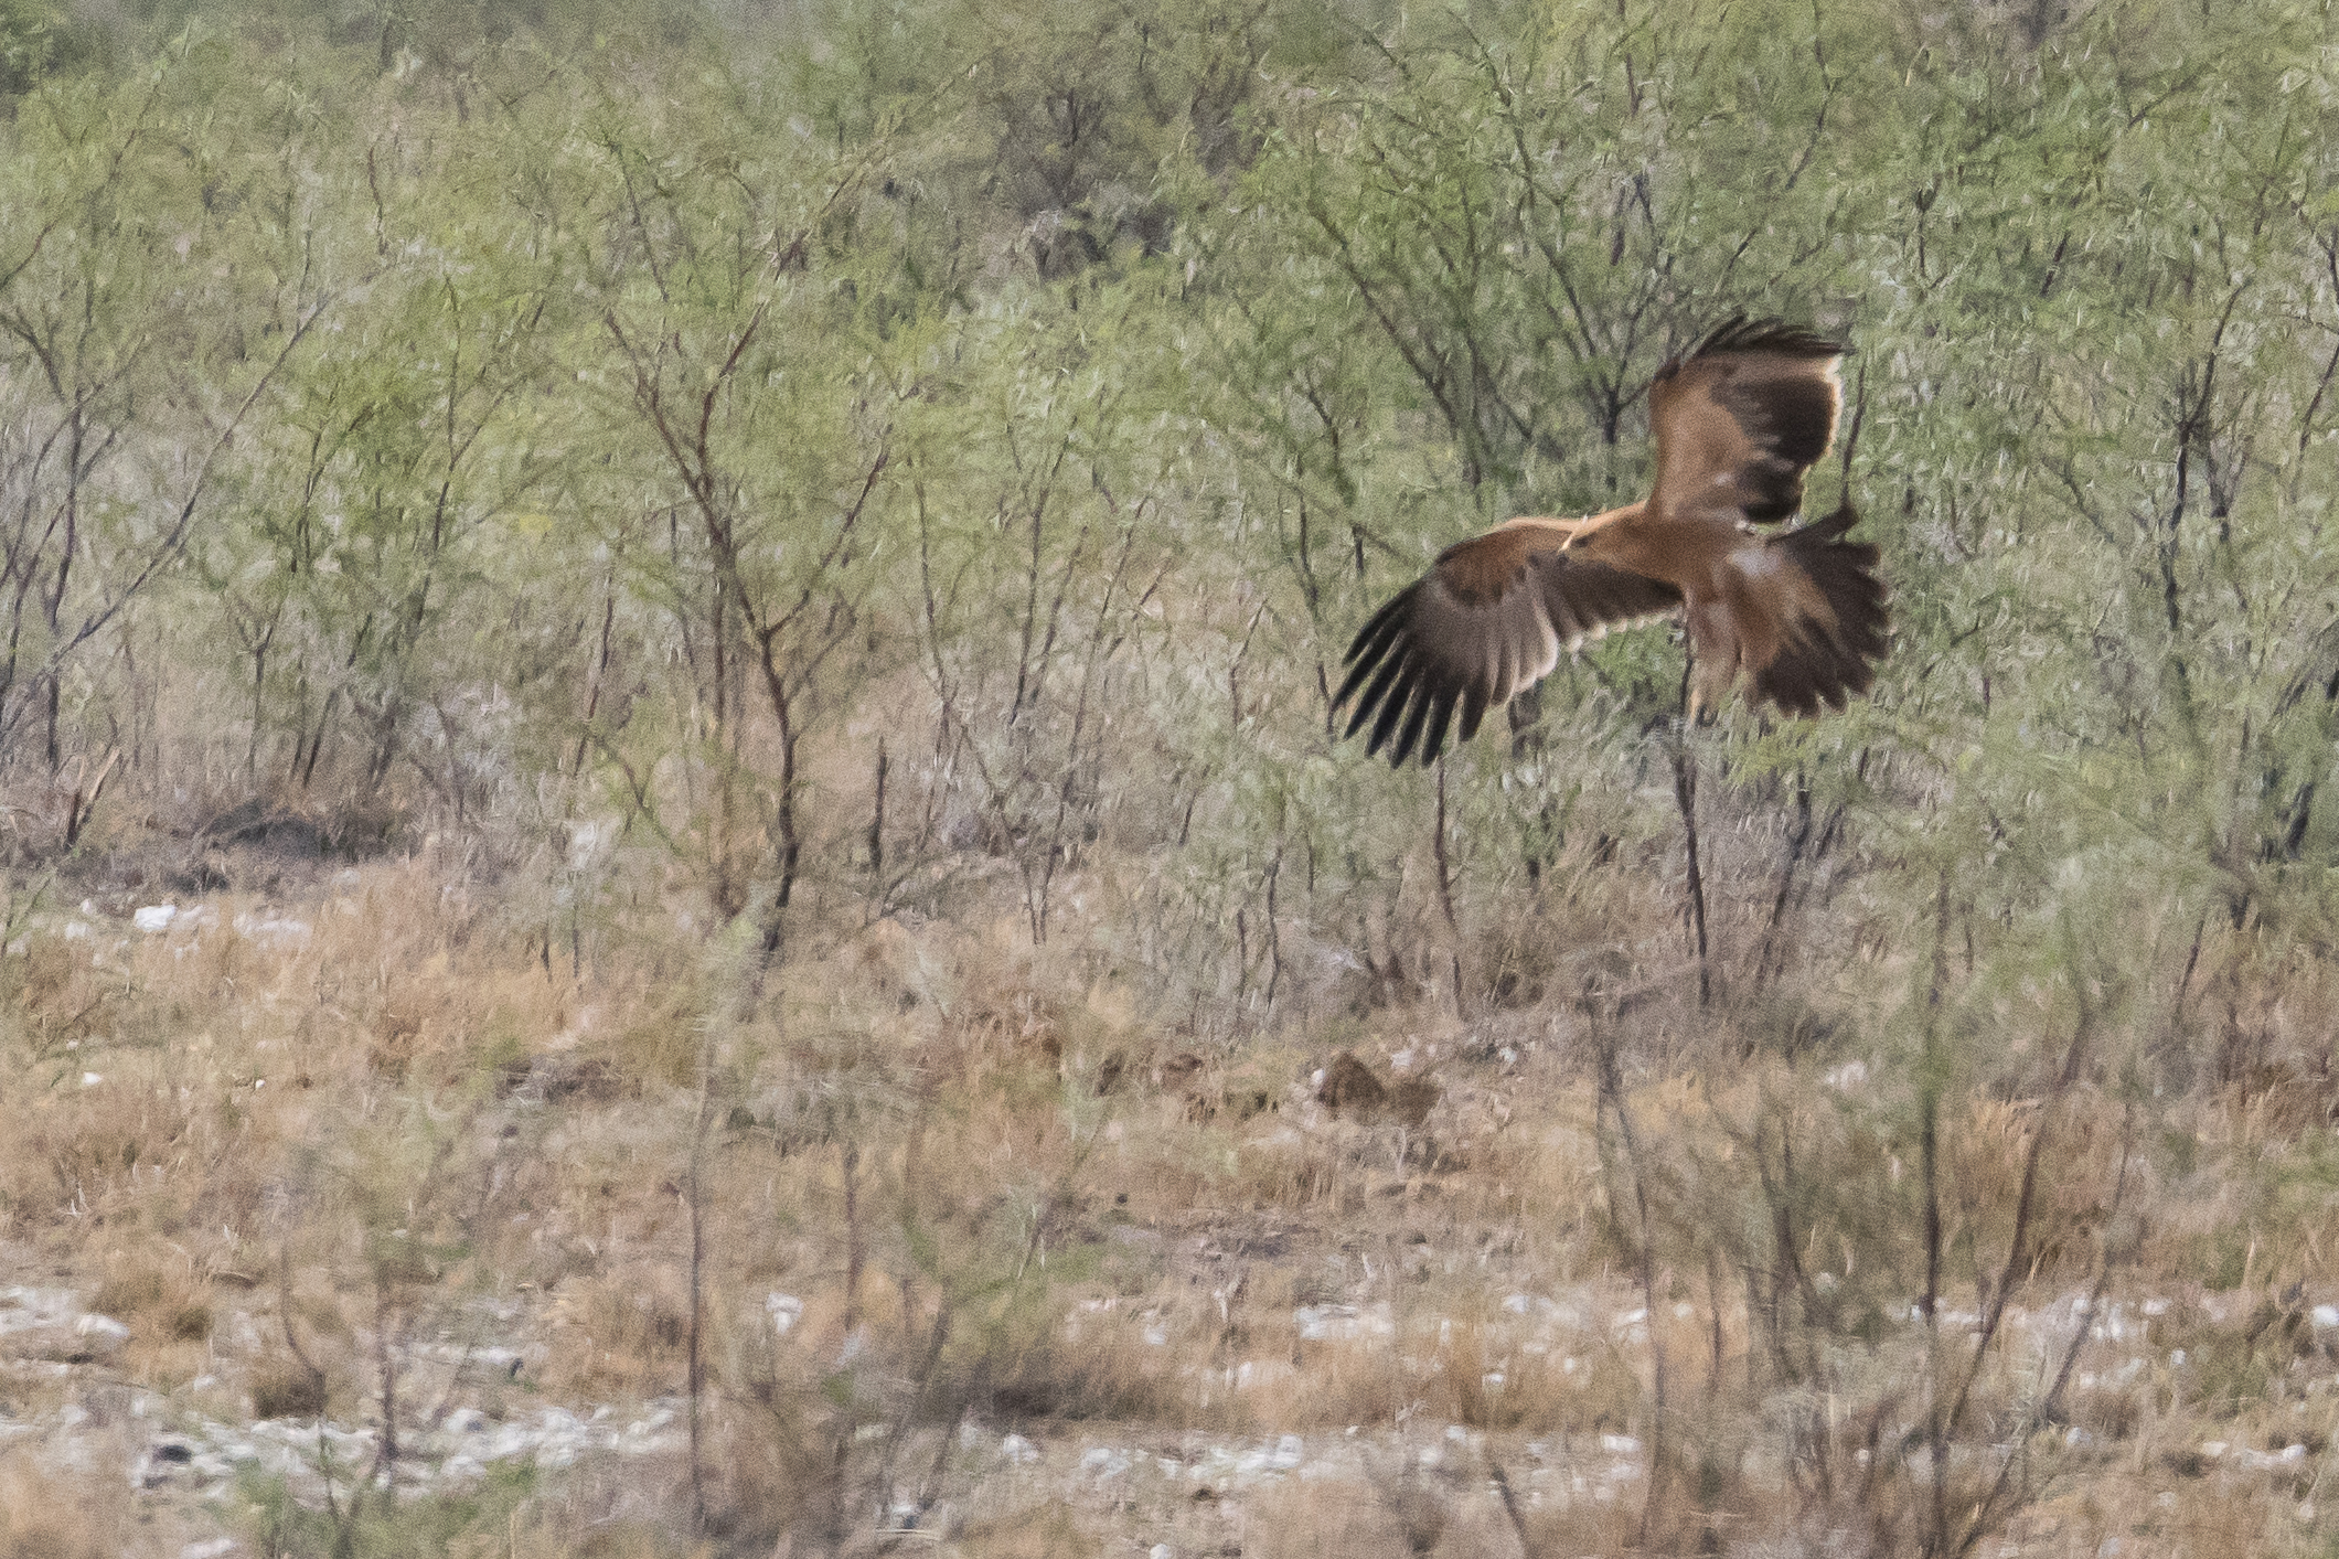
{"type": "Polygon", "coordinates": [[[1803,505],[1803,472],[1836,437],[1841,341],[1736,318],[1656,372],[1649,421],[1668,519],[1771,524],[1803,505]]]}

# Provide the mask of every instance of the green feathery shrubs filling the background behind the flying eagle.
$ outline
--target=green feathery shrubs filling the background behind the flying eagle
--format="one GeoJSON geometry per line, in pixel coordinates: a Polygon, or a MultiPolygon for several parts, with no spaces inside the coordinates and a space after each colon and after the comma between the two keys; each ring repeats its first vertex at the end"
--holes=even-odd
{"type": "MultiPolygon", "coordinates": [[[[28,795],[80,813],[129,748],[159,811],[475,830],[554,884],[547,965],[552,919],[582,961],[646,902],[812,979],[856,921],[980,916],[1076,926],[1179,1045],[1427,998],[1607,1024],[1619,1131],[1635,1068],[1752,1054],[1700,1106],[1729,1150],[1616,1159],[1607,1215],[1768,1274],[1787,1416],[1888,1400],[1944,1253],[2000,1304],[2105,1269],[2131,1159],[2187,1169],[2168,1101],[2327,1075],[2316,7],[220,26],[281,70],[194,30],[77,77],[0,12],[28,795]],[[1813,505],[1888,559],[1876,697],[1679,732],[1640,633],[1436,776],[1336,746],[1366,610],[1474,526],[1644,491],[1644,386],[1731,313],[1857,348],[1813,505]],[[1724,1000],[1656,1033],[1684,813],[1724,1000]],[[2007,1190],[2042,1173],[2065,1201],[2007,1190]],[[1785,1274],[1789,1234],[1843,1260],[1785,1274]]],[[[1022,1246],[973,1222],[905,1260],[1015,1353],[1022,1246]]]]}

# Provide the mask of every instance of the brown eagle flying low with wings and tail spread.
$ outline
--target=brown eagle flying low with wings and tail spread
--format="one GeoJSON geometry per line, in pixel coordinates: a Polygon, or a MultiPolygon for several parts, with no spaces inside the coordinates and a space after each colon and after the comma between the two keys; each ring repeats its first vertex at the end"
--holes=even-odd
{"type": "Polygon", "coordinates": [[[1860,514],[1764,535],[1803,507],[1808,472],[1836,437],[1841,341],[1736,318],[1649,386],[1656,484],[1591,519],[1513,519],[1438,554],[1347,647],[1333,711],[1366,753],[1431,762],[1462,715],[1532,687],[1562,650],[1658,617],[1689,624],[1689,708],[1710,715],[1738,675],[1792,715],[1843,708],[1876,680],[1892,619],[1860,514]]]}

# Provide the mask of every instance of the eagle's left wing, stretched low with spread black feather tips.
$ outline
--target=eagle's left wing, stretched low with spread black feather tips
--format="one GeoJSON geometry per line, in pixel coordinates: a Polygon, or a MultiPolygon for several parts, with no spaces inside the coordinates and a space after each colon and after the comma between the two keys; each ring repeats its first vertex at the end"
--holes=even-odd
{"type": "Polygon", "coordinates": [[[1455,711],[1462,741],[1488,708],[1541,680],[1560,650],[1682,605],[1682,591],[1623,568],[1569,556],[1576,526],[1513,519],[1448,547],[1436,566],[1373,612],[1347,647],[1333,711],[1357,697],[1347,736],[1371,722],[1366,753],[1389,764],[1446,748],[1455,711]]]}

